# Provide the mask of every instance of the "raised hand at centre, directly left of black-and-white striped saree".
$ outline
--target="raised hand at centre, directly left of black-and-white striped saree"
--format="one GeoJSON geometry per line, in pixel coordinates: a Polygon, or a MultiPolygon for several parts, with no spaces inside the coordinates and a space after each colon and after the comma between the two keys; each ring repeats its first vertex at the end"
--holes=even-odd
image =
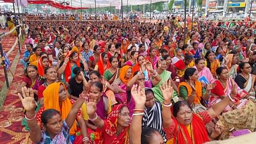
{"type": "Polygon", "coordinates": [[[135,108],[144,109],[147,99],[144,88],[142,88],[140,85],[134,85],[130,92],[135,101],[135,108]]]}

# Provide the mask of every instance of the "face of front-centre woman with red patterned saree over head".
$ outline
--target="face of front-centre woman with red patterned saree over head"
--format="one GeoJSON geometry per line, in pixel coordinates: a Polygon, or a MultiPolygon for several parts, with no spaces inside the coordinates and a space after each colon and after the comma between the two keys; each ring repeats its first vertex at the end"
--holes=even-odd
{"type": "Polygon", "coordinates": [[[130,124],[130,111],[127,107],[121,109],[118,114],[117,124],[121,125],[122,127],[129,127],[130,124]]]}

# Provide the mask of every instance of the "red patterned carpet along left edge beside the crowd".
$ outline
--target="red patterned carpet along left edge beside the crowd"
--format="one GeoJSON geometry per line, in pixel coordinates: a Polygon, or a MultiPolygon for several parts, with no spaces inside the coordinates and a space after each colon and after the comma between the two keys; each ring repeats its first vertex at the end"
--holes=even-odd
{"type": "MultiPolygon", "coordinates": [[[[2,40],[2,46],[4,51],[7,53],[14,44],[16,37],[7,37],[2,40]]],[[[23,56],[24,45],[19,59],[23,56]]],[[[15,50],[9,55],[9,61],[14,61],[15,56],[19,54],[19,46],[16,46],[15,50]]],[[[29,134],[25,132],[24,128],[20,125],[23,114],[22,104],[20,103],[17,95],[17,83],[22,81],[23,67],[18,62],[12,84],[9,91],[7,92],[6,101],[3,104],[2,111],[0,112],[0,143],[31,143],[29,141],[29,134]]],[[[4,70],[0,69],[0,88],[4,85],[4,70]]]]}

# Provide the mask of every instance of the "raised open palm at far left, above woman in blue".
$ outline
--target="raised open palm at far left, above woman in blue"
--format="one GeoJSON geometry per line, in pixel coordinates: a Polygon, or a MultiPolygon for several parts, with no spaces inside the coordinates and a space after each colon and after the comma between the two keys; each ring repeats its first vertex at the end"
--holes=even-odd
{"type": "Polygon", "coordinates": [[[34,99],[33,89],[28,89],[27,87],[22,88],[22,95],[18,93],[20,101],[22,101],[22,106],[26,111],[35,111],[36,102],[34,99]]]}

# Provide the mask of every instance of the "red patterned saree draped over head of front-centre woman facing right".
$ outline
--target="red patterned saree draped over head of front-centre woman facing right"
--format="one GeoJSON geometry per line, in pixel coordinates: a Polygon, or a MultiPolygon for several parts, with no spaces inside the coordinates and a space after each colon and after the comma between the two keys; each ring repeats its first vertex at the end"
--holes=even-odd
{"type": "MultiPolygon", "coordinates": [[[[113,136],[117,131],[117,119],[118,114],[121,111],[121,109],[126,106],[125,104],[118,104],[114,106],[112,111],[108,114],[108,121],[106,122],[106,130],[105,132],[108,133],[109,136],[113,136]]],[[[106,138],[107,140],[108,138],[106,138]]],[[[129,133],[128,133],[128,127],[122,129],[120,134],[112,140],[113,144],[127,144],[129,143],[129,133]]]]}

